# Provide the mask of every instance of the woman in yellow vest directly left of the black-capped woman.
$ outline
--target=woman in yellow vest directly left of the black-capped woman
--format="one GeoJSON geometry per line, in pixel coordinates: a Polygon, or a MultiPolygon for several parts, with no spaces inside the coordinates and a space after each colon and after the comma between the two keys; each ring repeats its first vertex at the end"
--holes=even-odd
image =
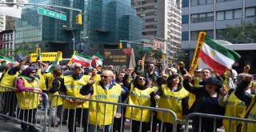
{"type": "MultiPolygon", "coordinates": [[[[188,97],[189,92],[184,89],[181,78],[178,74],[172,74],[167,78],[167,84],[162,85],[161,89],[155,94],[154,99],[157,100],[158,108],[173,110],[179,120],[184,120],[188,114],[188,97]]],[[[172,114],[164,114],[158,112],[158,119],[163,122],[164,131],[173,131],[172,114]],[[162,118],[163,117],[163,118],[162,118]]],[[[177,131],[182,131],[181,125],[177,126],[177,131]]]]}

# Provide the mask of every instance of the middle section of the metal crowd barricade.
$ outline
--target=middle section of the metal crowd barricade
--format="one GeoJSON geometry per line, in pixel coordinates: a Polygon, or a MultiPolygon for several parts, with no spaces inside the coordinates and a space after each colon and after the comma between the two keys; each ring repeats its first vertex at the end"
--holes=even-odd
{"type": "MultiPolygon", "coordinates": [[[[162,119],[166,116],[166,114],[171,115],[170,118],[172,121],[174,121],[172,123],[173,131],[177,130],[177,115],[173,111],[166,110],[166,109],[160,109],[160,108],[154,108],[154,107],[148,107],[148,106],[133,106],[125,103],[104,102],[104,101],[91,100],[86,98],[76,98],[76,97],[71,97],[71,96],[66,96],[61,94],[54,94],[50,98],[49,110],[56,111],[56,108],[59,109],[60,112],[50,112],[49,123],[52,125],[48,125],[49,132],[50,131],[94,132],[94,131],[98,131],[99,129],[103,131],[105,131],[106,129],[109,129],[109,131],[111,132],[117,129],[118,131],[123,131],[123,130],[132,131],[133,126],[138,126],[139,128],[138,131],[145,131],[145,129],[154,131],[157,129],[157,125],[155,124],[154,112],[159,112],[159,111],[162,111],[162,115],[160,115],[162,119]],[[74,103],[68,103],[68,104],[65,103],[68,100],[72,100],[72,102],[74,103]],[[64,102],[64,103],[61,104],[58,102],[64,102]],[[86,108],[81,106],[81,105],[84,105],[85,103],[87,103],[88,105],[86,108]],[[61,105],[58,106],[57,104],[61,104],[61,105]],[[130,117],[137,115],[137,118],[140,118],[141,120],[137,121],[135,119],[133,120],[132,118],[125,117],[125,111],[126,111],[126,108],[128,107],[130,107],[130,117]],[[147,110],[150,110],[150,115],[148,114],[148,112],[146,112],[147,110]],[[119,116],[119,114],[116,114],[116,113],[120,113],[121,117],[119,116]],[[142,122],[142,118],[145,119],[146,116],[149,116],[148,118],[150,118],[150,121],[142,122]],[[126,119],[129,119],[130,122],[126,122],[126,119]],[[119,125],[114,128],[114,126],[117,123],[116,121],[118,122],[119,125]],[[62,122],[67,122],[66,124],[67,126],[65,126],[65,124],[63,124],[62,122]],[[98,124],[98,122],[100,123],[103,122],[103,124],[98,124]],[[145,128],[145,124],[147,124],[146,128],[145,128]],[[86,129],[86,130],[83,130],[83,129],[86,129]]],[[[163,122],[159,122],[158,130],[162,131],[163,126],[164,126],[163,122]]]]}

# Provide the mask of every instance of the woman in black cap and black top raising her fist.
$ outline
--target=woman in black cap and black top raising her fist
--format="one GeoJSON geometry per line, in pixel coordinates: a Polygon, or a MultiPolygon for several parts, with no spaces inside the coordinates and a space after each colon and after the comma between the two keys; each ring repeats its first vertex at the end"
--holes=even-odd
{"type": "MultiPolygon", "coordinates": [[[[203,71],[203,70],[202,70],[203,71]]],[[[194,88],[190,86],[190,74],[185,74],[183,86],[190,93],[195,94],[196,100],[190,108],[189,113],[203,113],[203,114],[225,114],[225,107],[218,105],[218,97],[220,95],[220,88],[222,88],[222,82],[217,78],[210,77],[203,82],[199,82],[200,88],[194,88]]],[[[216,120],[216,127],[213,126],[214,119],[202,118],[201,130],[213,131],[217,130],[218,127],[222,126],[222,121],[216,120]]],[[[199,130],[199,118],[193,118],[194,131],[199,130]]]]}

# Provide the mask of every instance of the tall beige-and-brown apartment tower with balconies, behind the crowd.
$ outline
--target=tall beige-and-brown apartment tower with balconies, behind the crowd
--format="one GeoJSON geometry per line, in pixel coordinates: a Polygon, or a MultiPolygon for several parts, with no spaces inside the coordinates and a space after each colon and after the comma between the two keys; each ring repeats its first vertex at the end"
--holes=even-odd
{"type": "Polygon", "coordinates": [[[142,18],[142,35],[166,39],[167,57],[177,59],[182,48],[182,12],[179,0],[132,0],[142,18]]]}

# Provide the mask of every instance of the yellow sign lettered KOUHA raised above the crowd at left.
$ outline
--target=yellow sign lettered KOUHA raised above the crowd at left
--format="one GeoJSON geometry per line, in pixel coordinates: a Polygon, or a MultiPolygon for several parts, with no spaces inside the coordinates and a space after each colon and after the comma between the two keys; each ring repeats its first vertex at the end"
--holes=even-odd
{"type": "MultiPolygon", "coordinates": [[[[54,62],[58,52],[43,52],[41,53],[41,60],[42,61],[50,61],[54,62]]],[[[36,62],[37,60],[37,53],[30,54],[30,62],[36,62]]],[[[59,61],[62,61],[62,54],[59,56],[59,61]]]]}

